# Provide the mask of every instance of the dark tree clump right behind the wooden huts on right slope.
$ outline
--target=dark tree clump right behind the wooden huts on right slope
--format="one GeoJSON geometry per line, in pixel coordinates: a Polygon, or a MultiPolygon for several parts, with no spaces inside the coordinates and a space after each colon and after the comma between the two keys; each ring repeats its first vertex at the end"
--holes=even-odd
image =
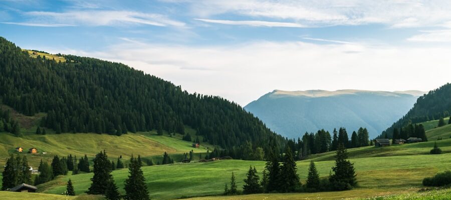
{"type": "MultiPolygon", "coordinates": [[[[427,141],[426,131],[424,130],[423,124],[412,124],[409,123],[405,127],[393,128],[393,133],[391,138],[394,143],[395,139],[407,139],[409,137],[418,137],[423,141],[427,141]]],[[[389,138],[388,134],[383,134],[383,138],[389,138]]]]}

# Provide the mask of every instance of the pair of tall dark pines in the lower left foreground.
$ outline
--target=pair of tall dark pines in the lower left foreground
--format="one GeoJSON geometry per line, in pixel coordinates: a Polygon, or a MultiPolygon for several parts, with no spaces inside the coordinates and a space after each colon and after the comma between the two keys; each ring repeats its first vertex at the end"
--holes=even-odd
{"type": "MultiPolygon", "coordinates": [[[[138,158],[140,156],[138,155],[138,158]]],[[[112,165],[105,151],[101,151],[94,158],[93,172],[94,175],[91,178],[91,186],[89,187],[87,193],[89,194],[104,194],[109,200],[118,199],[150,199],[149,191],[145,183],[145,178],[141,170],[141,160],[140,158],[130,159],[129,164],[129,175],[125,180],[125,195],[121,196],[116,183],[114,182],[113,176],[111,175],[112,165]]]]}

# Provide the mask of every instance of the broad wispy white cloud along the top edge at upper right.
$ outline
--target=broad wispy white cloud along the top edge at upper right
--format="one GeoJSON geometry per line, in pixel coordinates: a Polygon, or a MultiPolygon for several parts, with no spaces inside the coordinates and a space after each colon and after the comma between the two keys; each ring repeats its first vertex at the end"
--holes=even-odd
{"type": "Polygon", "coordinates": [[[196,18],[232,13],[251,18],[284,19],[307,26],[379,23],[390,27],[421,27],[440,26],[451,20],[451,1],[439,0],[181,1],[189,3],[196,18]]]}

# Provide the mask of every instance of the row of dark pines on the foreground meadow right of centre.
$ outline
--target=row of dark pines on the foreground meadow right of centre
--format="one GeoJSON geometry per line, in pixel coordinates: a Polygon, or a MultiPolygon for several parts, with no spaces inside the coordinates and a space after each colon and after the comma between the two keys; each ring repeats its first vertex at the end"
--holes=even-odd
{"type": "MultiPolygon", "coordinates": [[[[347,160],[347,151],[343,144],[339,143],[335,166],[332,167],[333,174],[328,178],[320,178],[315,163],[310,162],[306,184],[299,181],[297,175],[296,162],[291,153],[290,147],[287,147],[282,160],[274,156],[268,161],[263,171],[262,180],[255,167],[250,166],[244,179],[243,193],[262,193],[262,192],[300,192],[300,191],[331,191],[352,189],[357,184],[353,163],[347,160]],[[283,164],[280,164],[280,161],[283,164]]],[[[232,172],[230,187],[225,184],[224,194],[238,194],[235,174],[232,172]]]]}

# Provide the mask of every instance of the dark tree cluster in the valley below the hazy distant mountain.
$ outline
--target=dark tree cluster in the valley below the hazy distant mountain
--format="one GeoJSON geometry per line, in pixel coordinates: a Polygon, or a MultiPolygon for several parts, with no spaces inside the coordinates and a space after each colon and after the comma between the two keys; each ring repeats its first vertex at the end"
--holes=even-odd
{"type": "Polygon", "coordinates": [[[289,139],[287,146],[290,146],[296,159],[300,160],[310,154],[323,153],[337,150],[338,144],[342,143],[346,148],[354,148],[369,145],[369,134],[366,128],[360,127],[357,132],[353,131],[351,139],[348,137],[346,128],[340,127],[337,131],[334,128],[333,136],[324,129],[316,133],[306,132],[302,139],[289,139]]]}

